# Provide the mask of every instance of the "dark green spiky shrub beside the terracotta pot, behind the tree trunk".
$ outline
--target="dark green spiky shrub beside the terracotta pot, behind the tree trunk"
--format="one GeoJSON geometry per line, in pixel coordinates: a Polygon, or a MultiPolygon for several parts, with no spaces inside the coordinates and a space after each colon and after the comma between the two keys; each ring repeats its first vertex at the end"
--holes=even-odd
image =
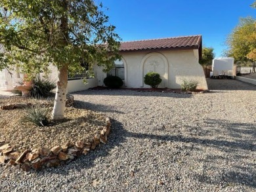
{"type": "Polygon", "coordinates": [[[33,83],[34,85],[30,91],[30,96],[33,98],[46,98],[52,94],[51,90],[56,87],[56,83],[50,79],[43,79],[41,77],[35,78],[33,83]]]}

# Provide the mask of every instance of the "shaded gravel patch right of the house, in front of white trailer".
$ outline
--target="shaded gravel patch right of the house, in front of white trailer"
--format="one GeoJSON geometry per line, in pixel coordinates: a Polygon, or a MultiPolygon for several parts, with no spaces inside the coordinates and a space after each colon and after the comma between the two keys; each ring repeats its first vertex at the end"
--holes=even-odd
{"type": "Polygon", "coordinates": [[[209,90],[256,90],[256,85],[236,79],[206,79],[209,90]]]}

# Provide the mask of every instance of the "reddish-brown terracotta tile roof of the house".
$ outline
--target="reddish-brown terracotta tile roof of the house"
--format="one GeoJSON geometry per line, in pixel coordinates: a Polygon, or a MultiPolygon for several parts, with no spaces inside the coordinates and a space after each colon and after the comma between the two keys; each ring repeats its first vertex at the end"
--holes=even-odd
{"type": "Polygon", "coordinates": [[[176,49],[176,48],[200,48],[202,47],[202,36],[170,37],[165,39],[150,39],[142,41],[121,42],[120,51],[139,51],[156,49],[176,49]]]}

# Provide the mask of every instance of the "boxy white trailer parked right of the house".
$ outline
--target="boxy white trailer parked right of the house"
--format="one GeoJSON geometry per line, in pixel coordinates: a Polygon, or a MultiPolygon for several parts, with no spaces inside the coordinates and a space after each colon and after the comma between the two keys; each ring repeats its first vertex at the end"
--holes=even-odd
{"type": "Polygon", "coordinates": [[[213,78],[234,78],[234,76],[236,76],[234,58],[226,57],[214,59],[211,75],[213,75],[213,78]]]}

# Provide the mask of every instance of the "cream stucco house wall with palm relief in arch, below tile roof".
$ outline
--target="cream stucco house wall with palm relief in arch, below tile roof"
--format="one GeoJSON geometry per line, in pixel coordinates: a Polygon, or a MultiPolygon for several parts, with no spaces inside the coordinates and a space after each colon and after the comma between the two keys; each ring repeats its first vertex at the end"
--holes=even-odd
{"type": "MultiPolygon", "coordinates": [[[[161,52],[121,53],[125,66],[125,84],[130,88],[148,88],[144,85],[144,75],[148,71],[160,73],[162,88],[181,88],[182,79],[194,79],[198,88],[208,89],[203,67],[198,62],[198,50],[162,50],[161,52]]],[[[95,67],[98,86],[106,77],[102,67],[95,67]]]]}

